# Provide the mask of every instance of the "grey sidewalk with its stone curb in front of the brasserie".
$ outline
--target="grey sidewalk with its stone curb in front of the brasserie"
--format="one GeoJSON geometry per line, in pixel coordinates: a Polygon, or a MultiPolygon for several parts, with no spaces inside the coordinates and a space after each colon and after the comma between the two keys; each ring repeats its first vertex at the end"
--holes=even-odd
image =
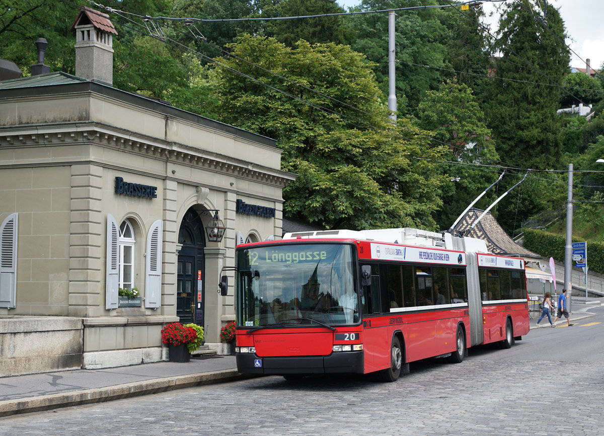
{"type": "Polygon", "coordinates": [[[0,377],[0,417],[249,378],[235,356],[0,377]]]}

